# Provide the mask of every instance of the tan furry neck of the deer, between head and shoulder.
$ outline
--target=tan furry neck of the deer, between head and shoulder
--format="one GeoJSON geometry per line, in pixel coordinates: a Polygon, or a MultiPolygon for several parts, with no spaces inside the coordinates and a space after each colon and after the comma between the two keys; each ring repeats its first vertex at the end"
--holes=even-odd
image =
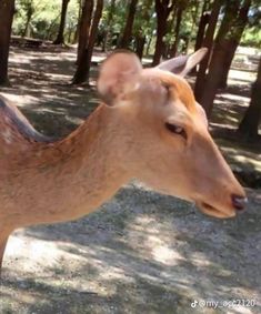
{"type": "Polygon", "coordinates": [[[130,179],[122,162],[124,145],[119,142],[121,132],[112,111],[100,105],[64,140],[34,143],[28,150],[27,158],[20,160],[22,166],[11,180],[19,189],[13,207],[21,205],[12,210],[12,215],[19,216],[20,226],[88,214],[130,179]]]}

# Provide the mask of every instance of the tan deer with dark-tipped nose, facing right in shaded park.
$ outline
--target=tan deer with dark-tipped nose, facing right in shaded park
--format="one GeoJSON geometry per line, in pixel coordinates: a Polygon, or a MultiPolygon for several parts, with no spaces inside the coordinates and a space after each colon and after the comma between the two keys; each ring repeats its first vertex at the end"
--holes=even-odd
{"type": "Polygon", "coordinates": [[[100,105],[59,140],[0,98],[0,266],[14,230],[77,220],[132,179],[214,217],[245,207],[245,192],[184,79],[205,52],[145,69],[134,53],[113,52],[100,68],[100,105]]]}

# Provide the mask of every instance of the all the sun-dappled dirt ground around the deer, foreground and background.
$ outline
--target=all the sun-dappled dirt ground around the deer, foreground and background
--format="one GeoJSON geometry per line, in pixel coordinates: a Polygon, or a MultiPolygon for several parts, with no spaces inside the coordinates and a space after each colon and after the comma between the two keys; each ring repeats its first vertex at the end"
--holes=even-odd
{"type": "MultiPolygon", "coordinates": [[[[48,135],[69,133],[98,103],[94,87],[69,84],[74,58],[69,49],[11,51],[11,87],[0,91],[48,135]]],[[[235,128],[248,105],[254,74],[241,75],[239,95],[234,73],[212,128],[235,128]]],[[[261,169],[259,146],[220,143],[234,168],[261,169]]],[[[135,182],[79,221],[19,230],[0,313],[261,313],[261,191],[248,194],[248,211],[222,221],[135,182]]]]}

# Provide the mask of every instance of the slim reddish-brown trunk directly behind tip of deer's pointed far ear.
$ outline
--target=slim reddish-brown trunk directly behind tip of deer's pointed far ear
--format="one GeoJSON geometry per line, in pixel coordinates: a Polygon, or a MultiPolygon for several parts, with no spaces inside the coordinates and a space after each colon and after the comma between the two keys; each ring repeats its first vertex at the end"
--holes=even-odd
{"type": "Polygon", "coordinates": [[[214,30],[217,27],[220,9],[221,9],[222,0],[214,0],[211,14],[210,14],[210,21],[209,27],[205,32],[205,37],[203,40],[202,47],[208,48],[208,53],[200,63],[195,84],[194,84],[194,95],[198,102],[201,103],[202,94],[204,91],[204,82],[205,82],[205,71],[209,67],[210,57],[212,54],[212,45],[213,45],[213,37],[214,37],[214,30]]]}

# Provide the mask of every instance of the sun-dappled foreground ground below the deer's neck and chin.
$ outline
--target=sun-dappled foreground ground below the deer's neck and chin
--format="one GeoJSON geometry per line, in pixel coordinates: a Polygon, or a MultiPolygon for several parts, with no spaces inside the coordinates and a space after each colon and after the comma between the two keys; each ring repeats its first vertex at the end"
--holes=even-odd
{"type": "Polygon", "coordinates": [[[260,313],[242,304],[191,307],[194,300],[260,300],[261,199],[253,196],[249,212],[220,221],[129,185],[86,219],[19,231],[9,243],[0,307],[10,313],[260,313]],[[26,249],[19,253],[18,246],[26,249]]]}

